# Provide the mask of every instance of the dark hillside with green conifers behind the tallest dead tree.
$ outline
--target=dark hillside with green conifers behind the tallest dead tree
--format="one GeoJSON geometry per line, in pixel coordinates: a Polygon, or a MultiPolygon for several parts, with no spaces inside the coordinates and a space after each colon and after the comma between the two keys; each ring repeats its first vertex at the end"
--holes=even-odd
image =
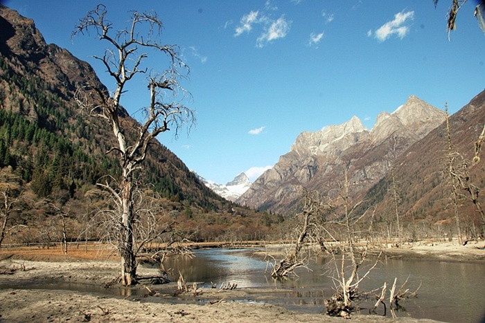
{"type": "MultiPolygon", "coordinates": [[[[59,214],[71,221],[69,239],[77,239],[82,219],[94,212],[94,202],[104,200],[96,183],[121,172],[108,153],[114,143],[111,129],[80,113],[73,100],[79,84],[103,85],[89,64],[46,44],[31,19],[0,6],[0,29],[0,188],[8,196],[3,204],[12,203],[2,211],[8,214],[6,239],[55,240],[59,214]]],[[[136,123],[126,111],[121,118],[136,123]]],[[[234,228],[244,238],[241,227],[252,235],[251,227],[258,226],[261,214],[236,210],[157,141],[137,181],[194,239],[216,239],[234,228]],[[244,225],[233,219],[235,212],[248,216],[244,225]]],[[[269,223],[261,232],[269,230],[269,223]]]]}

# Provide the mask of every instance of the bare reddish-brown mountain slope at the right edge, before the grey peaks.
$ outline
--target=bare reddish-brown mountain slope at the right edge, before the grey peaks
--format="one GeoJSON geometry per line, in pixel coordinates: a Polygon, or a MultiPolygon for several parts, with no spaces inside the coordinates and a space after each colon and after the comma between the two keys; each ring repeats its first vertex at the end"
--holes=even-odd
{"type": "MultiPolygon", "coordinates": [[[[457,169],[468,165],[471,181],[483,190],[485,185],[485,156],[480,152],[481,161],[473,163],[475,142],[485,123],[485,91],[479,93],[465,107],[450,117],[450,129],[454,150],[458,155],[457,169]]],[[[396,160],[396,183],[400,194],[399,211],[407,223],[425,220],[426,223],[450,223],[453,216],[450,202],[450,185],[447,167],[447,134],[446,124],[431,131],[425,138],[412,145],[405,154],[396,160]]],[[[383,218],[394,214],[392,199],[391,176],[375,185],[367,194],[369,204],[376,203],[377,214],[383,218]]],[[[459,192],[462,197],[468,196],[465,191],[459,192]]],[[[479,202],[485,203],[484,196],[479,196],[479,202]]],[[[464,222],[479,225],[479,215],[473,203],[467,199],[460,201],[459,212],[464,222]]]]}

